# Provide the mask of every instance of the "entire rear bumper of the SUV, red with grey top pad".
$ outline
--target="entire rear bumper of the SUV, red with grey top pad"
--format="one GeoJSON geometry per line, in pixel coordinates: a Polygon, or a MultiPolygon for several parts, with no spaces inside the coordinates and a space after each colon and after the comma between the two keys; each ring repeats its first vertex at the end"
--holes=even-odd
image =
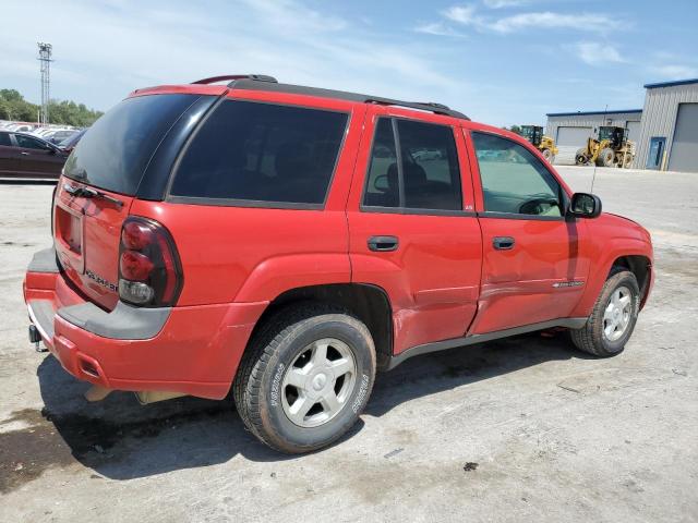
{"type": "Polygon", "coordinates": [[[221,399],[267,302],[111,312],[82,297],[40,251],[24,280],[29,319],[63,368],[117,390],[221,399]]]}

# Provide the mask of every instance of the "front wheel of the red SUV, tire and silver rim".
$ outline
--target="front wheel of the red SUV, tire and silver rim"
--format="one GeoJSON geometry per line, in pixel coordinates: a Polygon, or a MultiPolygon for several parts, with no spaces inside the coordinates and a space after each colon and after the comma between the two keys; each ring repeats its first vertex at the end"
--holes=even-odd
{"type": "Polygon", "coordinates": [[[591,315],[581,329],[570,329],[580,351],[598,357],[615,356],[630,339],[640,308],[640,289],[635,275],[618,267],[611,271],[591,315]]]}

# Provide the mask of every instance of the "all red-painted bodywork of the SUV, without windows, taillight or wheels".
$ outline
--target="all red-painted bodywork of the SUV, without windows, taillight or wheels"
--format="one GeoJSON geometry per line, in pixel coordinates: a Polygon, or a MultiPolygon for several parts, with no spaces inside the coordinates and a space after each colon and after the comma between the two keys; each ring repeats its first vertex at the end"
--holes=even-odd
{"type": "MultiPolygon", "coordinates": [[[[349,113],[324,209],[193,205],[107,193],[124,203],[119,208],[101,199],[70,196],[62,188],[67,181],[62,179],[53,212],[57,254],[65,271],[27,272],[27,303],[44,300],[58,311],[91,301],[113,309],[118,292],[109,283],[118,283],[119,236],[128,216],[151,218],[169,231],[183,278],[176,306],[151,339],[103,338],[56,315],[55,336],[45,342],[80,379],[122,390],[176,390],[222,398],[254,326],[268,304],[289,290],[352,282],[382,289],[392,308],[392,350],[399,354],[467,335],[585,317],[615,259],[639,255],[652,263],[647,231],[612,215],[595,220],[479,215],[483,211],[482,187],[469,131],[500,134],[542,159],[538,149],[513,133],[399,107],[220,85],[149,87],[131,96],[171,93],[349,113]],[[361,209],[380,115],[452,126],[465,212],[361,209]],[[366,241],[373,235],[395,235],[399,248],[370,251],[366,241]],[[515,248],[495,251],[494,236],[514,236],[515,248]],[[569,281],[582,284],[553,287],[569,281]]],[[[564,180],[550,170],[571,195],[564,180]]],[[[652,280],[650,271],[647,292],[652,280]]]]}

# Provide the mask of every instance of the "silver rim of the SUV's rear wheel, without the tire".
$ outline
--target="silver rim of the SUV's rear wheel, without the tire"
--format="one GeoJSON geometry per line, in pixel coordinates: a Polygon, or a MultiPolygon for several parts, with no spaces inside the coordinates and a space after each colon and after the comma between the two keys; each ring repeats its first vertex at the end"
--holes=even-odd
{"type": "Polygon", "coordinates": [[[284,413],[300,427],[329,422],[347,405],[357,381],[357,362],[344,341],[324,338],[306,345],[281,381],[284,413]]]}

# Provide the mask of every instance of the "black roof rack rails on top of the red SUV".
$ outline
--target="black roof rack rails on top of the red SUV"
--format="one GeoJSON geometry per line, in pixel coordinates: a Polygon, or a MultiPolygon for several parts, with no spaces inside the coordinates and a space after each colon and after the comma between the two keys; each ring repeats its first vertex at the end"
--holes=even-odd
{"type": "Polygon", "coordinates": [[[279,84],[275,77],[267,76],[265,74],[231,74],[225,76],[214,76],[212,78],[204,78],[194,84],[213,84],[214,82],[220,82],[224,80],[230,80],[228,87],[250,89],[250,90],[273,90],[276,93],[288,93],[294,95],[308,95],[317,96],[321,98],[337,98],[340,100],[358,101],[361,104],[377,104],[382,106],[398,106],[407,107],[409,109],[417,109],[419,111],[433,112],[435,114],[444,114],[446,117],[459,118],[462,120],[470,120],[462,112],[455,111],[448,106],[443,104],[436,104],[435,101],[402,101],[395,100],[393,98],[382,98],[378,96],[360,95],[358,93],[348,93],[345,90],[323,89],[320,87],[306,87],[304,85],[293,84],[279,84]]]}

